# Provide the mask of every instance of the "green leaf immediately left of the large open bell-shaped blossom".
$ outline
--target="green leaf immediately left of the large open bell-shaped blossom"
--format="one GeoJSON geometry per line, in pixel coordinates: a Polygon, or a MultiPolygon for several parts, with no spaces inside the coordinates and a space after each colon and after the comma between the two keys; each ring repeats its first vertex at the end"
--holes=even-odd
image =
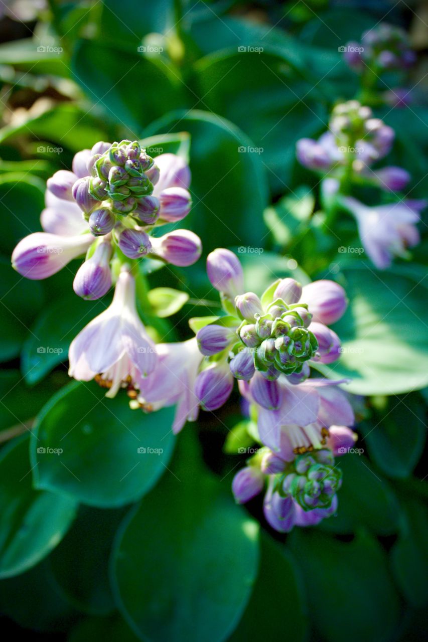
{"type": "Polygon", "coordinates": [[[21,353],[25,380],[37,383],[58,363],[67,360],[70,343],[76,334],[107,308],[109,301],[85,301],[73,290],[44,307],[21,353]]]}

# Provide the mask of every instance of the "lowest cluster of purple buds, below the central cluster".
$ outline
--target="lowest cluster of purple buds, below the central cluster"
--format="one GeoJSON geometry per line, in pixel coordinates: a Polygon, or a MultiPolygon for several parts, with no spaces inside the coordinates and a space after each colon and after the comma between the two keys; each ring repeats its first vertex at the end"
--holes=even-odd
{"type": "Polygon", "coordinates": [[[232,482],[237,503],[245,503],[263,491],[263,512],[274,530],[287,533],[294,526],[313,526],[337,510],[337,491],[342,473],[334,457],[346,453],[357,435],[346,426],[332,426],[327,447],[287,461],[262,447],[247,460],[232,482]]]}

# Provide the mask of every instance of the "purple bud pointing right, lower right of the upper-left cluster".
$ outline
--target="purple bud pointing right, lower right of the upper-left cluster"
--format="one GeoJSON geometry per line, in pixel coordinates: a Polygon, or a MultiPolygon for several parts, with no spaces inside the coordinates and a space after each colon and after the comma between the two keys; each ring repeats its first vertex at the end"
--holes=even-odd
{"type": "Polygon", "coordinates": [[[202,253],[201,239],[190,230],[175,230],[152,239],[153,254],[164,261],[186,267],[193,265],[202,253]]]}

